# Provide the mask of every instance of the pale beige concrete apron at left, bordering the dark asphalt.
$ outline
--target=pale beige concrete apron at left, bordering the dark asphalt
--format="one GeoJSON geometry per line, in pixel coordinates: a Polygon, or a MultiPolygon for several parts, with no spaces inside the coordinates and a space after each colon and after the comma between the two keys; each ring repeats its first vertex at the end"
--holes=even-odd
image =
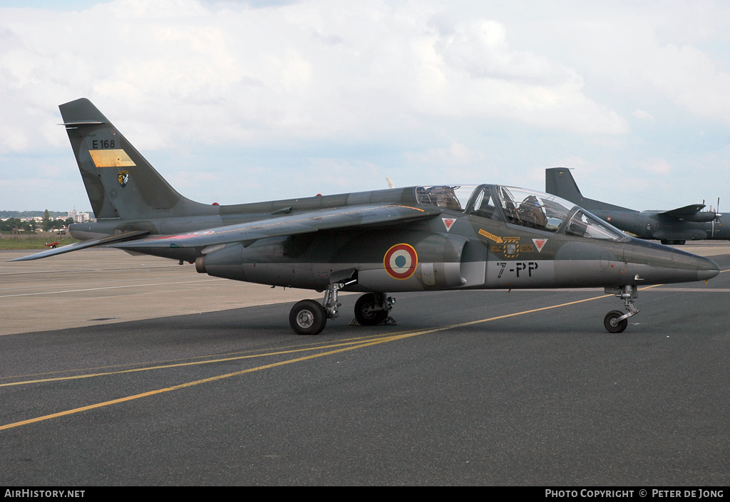
{"type": "Polygon", "coordinates": [[[7,263],[28,253],[0,251],[0,335],[297,301],[304,293],[204,276],[190,263],[103,248],[7,263]]]}

